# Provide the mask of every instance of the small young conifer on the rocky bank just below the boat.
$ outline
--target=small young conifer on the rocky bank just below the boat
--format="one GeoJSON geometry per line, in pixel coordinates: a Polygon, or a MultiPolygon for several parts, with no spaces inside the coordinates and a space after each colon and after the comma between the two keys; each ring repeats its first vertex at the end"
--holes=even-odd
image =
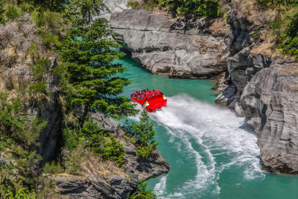
{"type": "Polygon", "coordinates": [[[147,111],[143,110],[141,112],[139,123],[130,123],[128,120],[125,120],[123,128],[132,137],[132,140],[135,141],[139,158],[148,158],[158,143],[154,140],[155,131],[153,129],[153,123],[149,120],[147,111]]]}

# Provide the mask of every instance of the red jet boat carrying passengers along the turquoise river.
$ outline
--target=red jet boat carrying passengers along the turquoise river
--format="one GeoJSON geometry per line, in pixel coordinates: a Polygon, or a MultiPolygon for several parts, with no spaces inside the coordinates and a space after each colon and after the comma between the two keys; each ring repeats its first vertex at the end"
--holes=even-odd
{"type": "Polygon", "coordinates": [[[135,91],[131,94],[131,99],[140,103],[148,112],[161,109],[166,106],[166,97],[160,91],[150,92],[148,89],[135,91]]]}

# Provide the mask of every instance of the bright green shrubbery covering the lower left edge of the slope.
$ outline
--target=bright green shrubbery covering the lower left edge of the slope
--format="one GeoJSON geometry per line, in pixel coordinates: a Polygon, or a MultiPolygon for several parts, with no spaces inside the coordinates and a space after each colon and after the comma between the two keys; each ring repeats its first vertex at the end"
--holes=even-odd
{"type": "Polygon", "coordinates": [[[33,179],[27,177],[30,168],[41,160],[29,147],[38,145],[39,132],[47,122],[28,118],[22,113],[23,106],[19,99],[8,99],[7,93],[0,93],[0,151],[5,154],[5,164],[0,165],[0,195],[7,194],[7,198],[34,195],[23,184],[34,187],[33,179]]]}

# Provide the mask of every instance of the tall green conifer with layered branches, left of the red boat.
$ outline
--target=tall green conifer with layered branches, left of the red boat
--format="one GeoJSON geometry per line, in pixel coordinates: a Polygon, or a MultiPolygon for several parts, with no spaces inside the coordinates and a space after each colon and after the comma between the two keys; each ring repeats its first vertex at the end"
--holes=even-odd
{"type": "Polygon", "coordinates": [[[75,88],[71,103],[85,106],[83,116],[92,107],[117,119],[134,115],[137,112],[135,105],[128,98],[119,97],[130,81],[117,77],[117,74],[127,69],[121,64],[112,63],[124,53],[113,50],[120,48],[120,45],[109,38],[113,32],[108,29],[105,19],[90,22],[90,15],[104,7],[102,1],[75,0],[73,5],[82,6],[79,7],[81,12],[67,33],[69,39],[60,50],[71,74],[70,82],[75,88]]]}

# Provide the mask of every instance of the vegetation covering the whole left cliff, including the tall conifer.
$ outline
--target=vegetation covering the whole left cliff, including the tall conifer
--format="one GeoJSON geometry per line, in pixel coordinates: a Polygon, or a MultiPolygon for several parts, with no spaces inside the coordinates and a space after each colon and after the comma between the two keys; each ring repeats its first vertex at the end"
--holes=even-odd
{"type": "Polygon", "coordinates": [[[113,50],[120,47],[113,32],[104,19],[91,23],[102,9],[101,0],[0,0],[0,198],[55,197],[55,181],[46,176],[81,175],[84,162],[125,167],[118,138],[91,117],[138,112],[120,96],[130,81],[117,76],[126,70],[121,64],[112,64],[124,55],[113,50]],[[58,58],[56,67],[50,57],[58,58]],[[41,168],[39,135],[48,121],[38,112],[53,103],[49,80],[55,76],[61,141],[57,159],[41,168]]]}

